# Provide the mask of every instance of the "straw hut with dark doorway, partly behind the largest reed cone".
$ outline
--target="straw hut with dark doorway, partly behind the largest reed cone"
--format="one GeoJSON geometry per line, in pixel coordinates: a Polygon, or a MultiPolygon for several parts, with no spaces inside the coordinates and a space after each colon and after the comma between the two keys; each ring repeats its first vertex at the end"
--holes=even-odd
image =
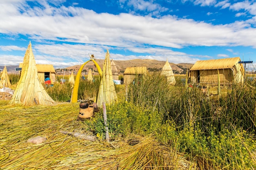
{"type": "MultiPolygon", "coordinates": [[[[22,63],[20,66],[22,68],[22,63]]],[[[49,77],[51,83],[56,82],[56,73],[52,64],[36,64],[38,79],[41,83],[45,82],[45,78],[49,77]]]]}

